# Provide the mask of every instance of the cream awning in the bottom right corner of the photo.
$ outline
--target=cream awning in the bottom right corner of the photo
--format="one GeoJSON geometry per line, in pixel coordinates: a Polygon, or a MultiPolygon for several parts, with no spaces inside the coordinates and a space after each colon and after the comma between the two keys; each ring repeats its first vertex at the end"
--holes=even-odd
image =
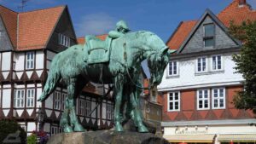
{"type": "Polygon", "coordinates": [[[219,135],[218,141],[220,142],[256,142],[256,134],[231,134],[219,135]]]}

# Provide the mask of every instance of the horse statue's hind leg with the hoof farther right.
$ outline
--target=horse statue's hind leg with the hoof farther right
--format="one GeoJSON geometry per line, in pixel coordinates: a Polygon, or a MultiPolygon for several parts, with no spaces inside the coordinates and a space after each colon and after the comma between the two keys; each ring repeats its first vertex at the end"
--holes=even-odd
{"type": "Polygon", "coordinates": [[[76,89],[76,81],[78,79],[77,78],[70,78],[69,84],[67,85],[67,101],[68,101],[68,105],[69,105],[69,118],[70,118],[70,122],[71,124],[73,124],[74,131],[84,131],[84,128],[81,124],[79,124],[79,120],[77,118],[76,112],[75,112],[75,98],[76,98],[76,93],[77,93],[77,89],[76,89]]]}

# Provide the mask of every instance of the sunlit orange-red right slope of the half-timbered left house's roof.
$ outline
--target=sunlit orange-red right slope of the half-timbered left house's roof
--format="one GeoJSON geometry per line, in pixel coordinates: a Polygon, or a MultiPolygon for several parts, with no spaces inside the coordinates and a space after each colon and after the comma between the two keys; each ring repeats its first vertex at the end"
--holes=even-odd
{"type": "Polygon", "coordinates": [[[46,47],[65,6],[19,14],[17,50],[46,47]]]}

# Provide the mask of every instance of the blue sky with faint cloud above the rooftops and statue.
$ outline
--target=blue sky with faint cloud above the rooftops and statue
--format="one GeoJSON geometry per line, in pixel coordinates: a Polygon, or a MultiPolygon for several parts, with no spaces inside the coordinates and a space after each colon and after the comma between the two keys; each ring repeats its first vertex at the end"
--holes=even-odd
{"type": "MultiPolygon", "coordinates": [[[[21,0],[0,0],[0,4],[20,11],[21,0]]],[[[126,20],[132,31],[147,30],[165,42],[181,20],[197,20],[205,9],[218,14],[232,0],[29,0],[25,11],[67,4],[78,37],[103,34],[118,20],[126,20]]],[[[247,0],[253,9],[256,0],[247,0]]]]}

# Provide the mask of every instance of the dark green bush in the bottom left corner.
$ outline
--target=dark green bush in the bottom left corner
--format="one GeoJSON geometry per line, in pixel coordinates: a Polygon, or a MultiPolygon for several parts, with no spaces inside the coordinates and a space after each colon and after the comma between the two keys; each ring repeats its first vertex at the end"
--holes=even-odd
{"type": "Polygon", "coordinates": [[[0,144],[2,144],[4,138],[11,134],[15,133],[17,130],[20,131],[20,140],[22,143],[26,143],[26,132],[20,125],[13,120],[1,120],[0,121],[0,144]]]}

